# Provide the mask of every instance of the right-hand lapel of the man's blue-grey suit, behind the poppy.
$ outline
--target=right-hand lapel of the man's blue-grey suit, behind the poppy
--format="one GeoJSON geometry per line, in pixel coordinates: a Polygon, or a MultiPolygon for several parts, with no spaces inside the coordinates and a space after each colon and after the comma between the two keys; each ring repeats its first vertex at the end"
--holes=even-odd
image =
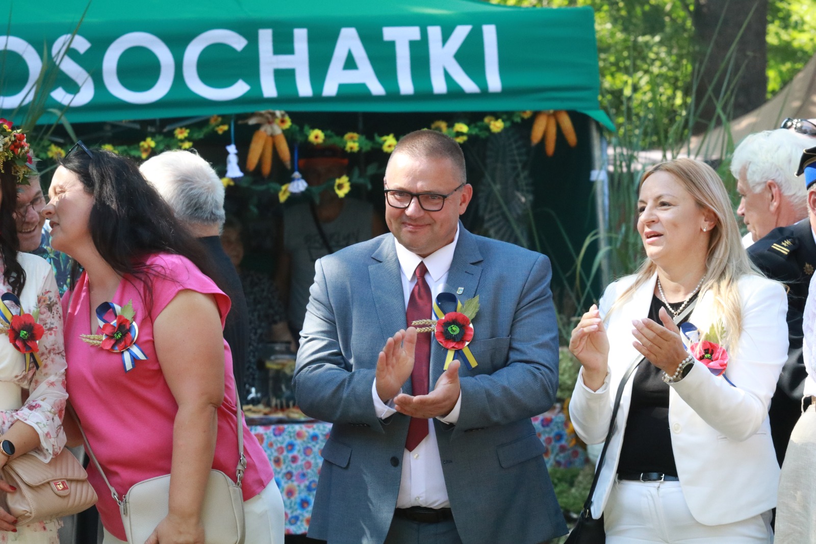
{"type": "MultiPolygon", "coordinates": [[[[476,237],[465,230],[462,223],[459,223],[459,240],[456,242],[454,258],[450,262],[450,270],[448,271],[448,279],[442,290],[455,294],[462,303],[472,299],[476,296],[479,279],[481,278],[481,266],[477,266],[475,263],[481,263],[481,261],[481,252],[476,244],[476,237]],[[461,294],[459,294],[459,288],[462,288],[461,294]]],[[[437,379],[442,374],[447,352],[435,339],[431,340],[431,367],[428,374],[429,390],[433,389],[437,379]]],[[[462,365],[468,365],[467,360],[460,360],[459,362],[462,365]]]]}

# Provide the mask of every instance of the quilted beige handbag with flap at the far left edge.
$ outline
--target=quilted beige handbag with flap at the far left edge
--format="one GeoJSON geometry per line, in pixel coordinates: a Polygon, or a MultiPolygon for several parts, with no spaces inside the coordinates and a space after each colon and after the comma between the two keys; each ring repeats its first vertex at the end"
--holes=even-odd
{"type": "Polygon", "coordinates": [[[96,503],[85,469],[67,448],[50,462],[32,453],[11,459],[2,467],[2,479],[17,488],[6,493],[6,506],[20,526],[77,514],[96,503]]]}

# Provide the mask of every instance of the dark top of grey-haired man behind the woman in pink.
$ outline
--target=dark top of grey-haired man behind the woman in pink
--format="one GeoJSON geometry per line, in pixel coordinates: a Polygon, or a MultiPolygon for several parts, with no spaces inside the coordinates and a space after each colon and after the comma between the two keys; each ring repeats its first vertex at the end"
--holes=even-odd
{"type": "MultiPolygon", "coordinates": [[[[220,237],[202,237],[198,238],[198,241],[202,242],[207,254],[210,255],[212,263],[221,275],[220,281],[224,283],[226,294],[232,301],[227,320],[224,323],[224,340],[229,344],[229,351],[233,353],[235,385],[243,402],[246,399],[244,369],[246,368],[246,350],[249,347],[249,336],[246,331],[249,329],[250,319],[246,310],[246,299],[244,299],[241,278],[238,277],[233,262],[224,253],[220,237]]],[[[232,393],[229,393],[229,396],[232,397],[232,393]]]]}

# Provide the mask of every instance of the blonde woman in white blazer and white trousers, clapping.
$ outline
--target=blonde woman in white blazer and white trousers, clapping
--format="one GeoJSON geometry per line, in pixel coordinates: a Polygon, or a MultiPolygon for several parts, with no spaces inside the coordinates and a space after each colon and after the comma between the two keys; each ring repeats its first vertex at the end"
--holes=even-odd
{"type": "Polygon", "coordinates": [[[582,365],[570,418],[587,444],[605,440],[619,382],[645,357],[623,388],[592,516],[604,515],[608,544],[772,542],[768,406],[787,357],[783,286],[752,268],[725,187],[703,162],[648,170],[637,228],[645,263],[607,287],[570,339],[582,365]],[[690,304],[678,321],[696,338],[672,321],[690,304]],[[725,373],[691,356],[681,334],[689,347],[724,347],[725,373]]]}

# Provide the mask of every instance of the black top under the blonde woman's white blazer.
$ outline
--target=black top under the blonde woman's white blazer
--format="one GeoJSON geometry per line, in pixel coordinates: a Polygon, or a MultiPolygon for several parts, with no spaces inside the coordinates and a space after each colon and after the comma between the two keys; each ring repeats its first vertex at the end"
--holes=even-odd
{"type": "MultiPolygon", "coordinates": [[[[694,294],[694,298],[696,296],[694,294]]],[[[681,305],[682,303],[672,303],[675,310],[681,305]]],[[[662,323],[658,312],[665,306],[663,301],[653,295],[649,319],[662,323]]],[[[674,316],[672,312],[668,312],[668,315],[674,316]]],[[[681,323],[687,320],[688,316],[681,323]]],[[[629,405],[626,431],[623,433],[618,472],[663,472],[676,476],[672,431],[668,427],[669,386],[663,382],[663,370],[652,365],[649,360],[643,360],[632,379],[632,402],[629,405]]]]}

